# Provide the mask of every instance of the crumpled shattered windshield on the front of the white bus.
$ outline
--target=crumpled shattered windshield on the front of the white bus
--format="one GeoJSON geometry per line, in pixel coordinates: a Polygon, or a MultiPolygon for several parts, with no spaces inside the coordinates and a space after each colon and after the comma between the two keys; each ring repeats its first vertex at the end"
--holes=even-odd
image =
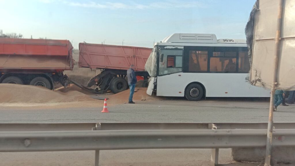
{"type": "Polygon", "coordinates": [[[145,71],[147,71],[151,77],[157,77],[157,47],[154,47],[153,51],[150,53],[145,63],[145,71]]]}

